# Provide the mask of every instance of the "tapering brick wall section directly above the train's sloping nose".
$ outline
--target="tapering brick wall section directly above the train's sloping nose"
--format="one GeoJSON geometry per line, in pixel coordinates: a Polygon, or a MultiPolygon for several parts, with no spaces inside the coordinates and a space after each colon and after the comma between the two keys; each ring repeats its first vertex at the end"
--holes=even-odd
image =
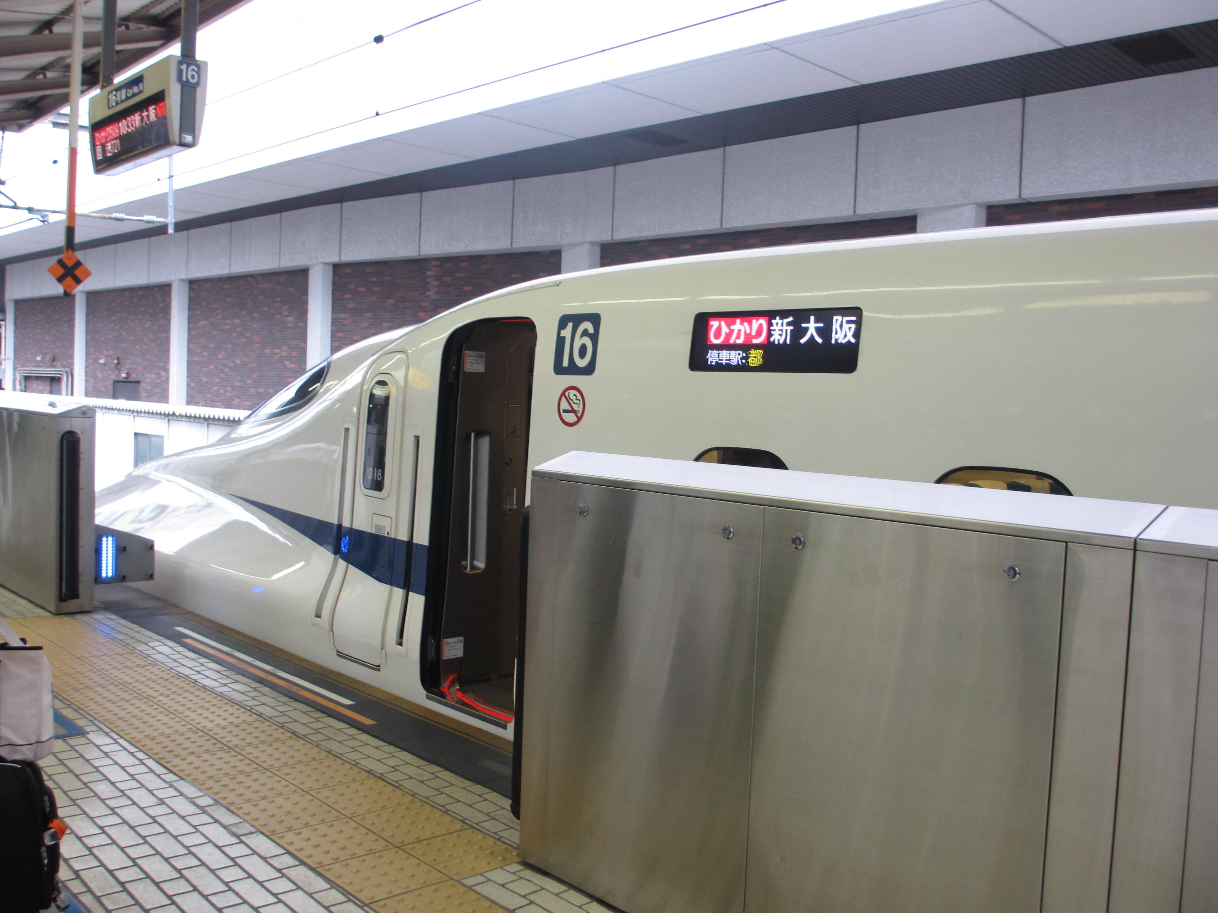
{"type": "Polygon", "coordinates": [[[561,268],[560,251],[335,264],[330,345],[337,352],[561,268]]]}

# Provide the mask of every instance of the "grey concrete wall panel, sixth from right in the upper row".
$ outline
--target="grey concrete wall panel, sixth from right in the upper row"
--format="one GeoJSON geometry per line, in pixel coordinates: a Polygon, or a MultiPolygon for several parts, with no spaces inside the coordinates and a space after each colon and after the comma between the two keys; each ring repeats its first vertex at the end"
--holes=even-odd
{"type": "Polygon", "coordinates": [[[512,247],[512,184],[504,180],[425,192],[419,253],[512,247]]]}

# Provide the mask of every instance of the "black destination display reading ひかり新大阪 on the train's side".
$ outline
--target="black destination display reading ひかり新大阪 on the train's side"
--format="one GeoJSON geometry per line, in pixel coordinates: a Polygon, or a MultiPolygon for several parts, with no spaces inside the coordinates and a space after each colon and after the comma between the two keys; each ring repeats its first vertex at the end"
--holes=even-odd
{"type": "Polygon", "coordinates": [[[691,371],[853,374],[859,366],[861,308],[698,314],[691,371]]]}

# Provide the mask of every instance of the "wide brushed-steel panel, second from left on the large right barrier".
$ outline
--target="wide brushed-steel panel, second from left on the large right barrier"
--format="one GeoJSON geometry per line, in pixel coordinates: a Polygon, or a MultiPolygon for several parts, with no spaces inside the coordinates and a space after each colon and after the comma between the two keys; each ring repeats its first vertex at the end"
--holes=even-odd
{"type": "Polygon", "coordinates": [[[750,913],[1040,908],[1065,548],[766,509],[750,913]]]}

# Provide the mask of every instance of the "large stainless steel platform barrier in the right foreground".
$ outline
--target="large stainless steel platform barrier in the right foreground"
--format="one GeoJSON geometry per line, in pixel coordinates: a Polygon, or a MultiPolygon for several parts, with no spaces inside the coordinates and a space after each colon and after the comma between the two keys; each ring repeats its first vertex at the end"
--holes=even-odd
{"type": "Polygon", "coordinates": [[[531,503],[526,862],[628,913],[1218,909],[1218,511],[587,453],[531,503]]]}

